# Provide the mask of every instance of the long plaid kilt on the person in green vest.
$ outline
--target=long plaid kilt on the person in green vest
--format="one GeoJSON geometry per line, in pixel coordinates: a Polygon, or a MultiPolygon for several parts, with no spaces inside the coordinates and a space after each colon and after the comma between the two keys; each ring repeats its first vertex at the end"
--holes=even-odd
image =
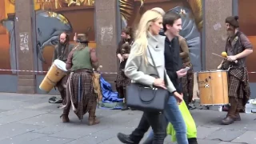
{"type": "Polygon", "coordinates": [[[88,71],[74,72],[70,78],[70,89],[70,97],[76,109],[74,113],[82,120],[83,115],[89,110],[96,109],[94,103],[97,102],[97,94],[94,92],[92,73],[88,71]]]}

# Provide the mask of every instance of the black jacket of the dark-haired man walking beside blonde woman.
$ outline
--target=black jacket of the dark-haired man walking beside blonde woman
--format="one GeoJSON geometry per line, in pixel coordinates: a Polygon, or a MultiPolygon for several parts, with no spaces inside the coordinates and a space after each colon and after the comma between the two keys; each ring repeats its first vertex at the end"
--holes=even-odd
{"type": "MultiPolygon", "coordinates": [[[[165,36],[163,32],[160,32],[159,34],[165,36]]],[[[179,49],[180,49],[180,46],[178,42],[178,37],[173,38],[171,42],[166,37],[166,42],[165,42],[166,72],[170,78],[170,81],[173,82],[177,92],[181,94],[182,89],[180,86],[178,75],[176,73],[176,71],[182,69],[182,59],[179,56],[179,52],[180,52],[179,49]]]]}

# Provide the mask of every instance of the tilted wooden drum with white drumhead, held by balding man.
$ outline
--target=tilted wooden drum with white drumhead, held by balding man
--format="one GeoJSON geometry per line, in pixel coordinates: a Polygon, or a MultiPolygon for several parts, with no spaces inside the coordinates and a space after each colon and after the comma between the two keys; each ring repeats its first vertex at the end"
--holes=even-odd
{"type": "Polygon", "coordinates": [[[50,66],[50,70],[47,72],[46,77],[43,78],[39,89],[49,93],[50,90],[52,90],[65,76],[66,72],[66,63],[56,59],[52,66],[50,66]]]}

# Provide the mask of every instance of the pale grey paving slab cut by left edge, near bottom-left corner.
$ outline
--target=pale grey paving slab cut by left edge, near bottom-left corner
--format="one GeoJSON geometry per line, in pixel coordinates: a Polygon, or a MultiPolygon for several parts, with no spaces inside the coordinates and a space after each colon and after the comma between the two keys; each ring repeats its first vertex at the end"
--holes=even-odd
{"type": "Polygon", "coordinates": [[[19,134],[26,134],[27,132],[41,129],[43,126],[28,125],[22,123],[9,123],[0,126],[0,140],[6,138],[13,138],[19,134]]]}

